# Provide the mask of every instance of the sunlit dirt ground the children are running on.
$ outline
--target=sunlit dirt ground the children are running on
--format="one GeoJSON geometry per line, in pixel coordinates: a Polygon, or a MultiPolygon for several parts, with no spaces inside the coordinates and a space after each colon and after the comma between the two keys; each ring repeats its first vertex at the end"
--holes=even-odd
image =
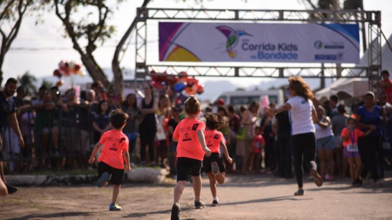
{"type": "MultiPolygon", "coordinates": [[[[220,205],[211,207],[207,177],[201,198],[207,207],[196,210],[191,183],[181,202],[181,219],[392,219],[392,178],[382,188],[352,188],[349,179],[326,182],[320,188],[310,180],[305,195],[294,197],[294,179],[267,175],[229,176],[218,186],[220,205]]],[[[21,187],[0,198],[0,219],[170,219],[173,184],[124,184],[119,204],[108,211],[112,188],[94,185],[21,187]]]]}

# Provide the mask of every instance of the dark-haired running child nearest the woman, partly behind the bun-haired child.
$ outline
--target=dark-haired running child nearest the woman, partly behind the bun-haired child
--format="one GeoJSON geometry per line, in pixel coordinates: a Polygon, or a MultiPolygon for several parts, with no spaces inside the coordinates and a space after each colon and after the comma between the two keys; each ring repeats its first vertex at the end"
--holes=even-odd
{"type": "Polygon", "coordinates": [[[206,131],[204,132],[204,135],[207,147],[211,150],[211,156],[204,156],[203,167],[205,173],[210,179],[210,189],[213,197],[212,206],[217,206],[219,203],[216,182],[222,184],[224,183],[225,178],[225,166],[219,147],[222,148],[223,154],[226,156],[227,161],[230,164],[233,163],[233,159],[227,152],[226,140],[224,139],[222,132],[217,131],[217,129],[220,128],[223,123],[224,122],[221,121],[221,118],[216,114],[210,113],[206,116],[206,131]]]}

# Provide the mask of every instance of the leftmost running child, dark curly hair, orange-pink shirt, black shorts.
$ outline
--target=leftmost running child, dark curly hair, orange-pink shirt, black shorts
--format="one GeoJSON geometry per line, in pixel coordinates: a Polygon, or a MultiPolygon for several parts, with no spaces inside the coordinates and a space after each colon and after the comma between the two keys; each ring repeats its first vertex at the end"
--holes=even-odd
{"type": "Polygon", "coordinates": [[[106,186],[111,175],[110,182],[113,184],[113,197],[109,210],[120,211],[121,207],[117,204],[117,198],[124,179],[124,157],[126,171],[131,170],[128,153],[129,141],[128,137],[123,133],[128,115],[118,109],[110,112],[109,118],[114,129],[102,134],[99,142],[95,145],[93,153],[91,153],[89,163],[94,163],[98,150],[103,146],[102,154],[98,158],[97,186],[106,186]]]}

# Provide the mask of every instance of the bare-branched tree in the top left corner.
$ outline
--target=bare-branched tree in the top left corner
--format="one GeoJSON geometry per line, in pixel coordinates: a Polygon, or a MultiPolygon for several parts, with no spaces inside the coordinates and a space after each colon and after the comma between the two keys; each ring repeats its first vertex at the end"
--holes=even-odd
{"type": "Polygon", "coordinates": [[[5,55],[18,35],[27,8],[31,5],[33,5],[33,0],[0,0],[0,85],[3,80],[1,67],[4,63],[5,55]],[[9,24],[8,33],[5,30],[4,23],[9,24]]]}

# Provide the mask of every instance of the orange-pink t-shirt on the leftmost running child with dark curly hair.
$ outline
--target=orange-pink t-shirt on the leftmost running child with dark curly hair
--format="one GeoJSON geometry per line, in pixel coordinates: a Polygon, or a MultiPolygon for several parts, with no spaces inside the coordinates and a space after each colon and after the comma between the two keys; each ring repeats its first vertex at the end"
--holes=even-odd
{"type": "Polygon", "coordinates": [[[102,161],[113,168],[123,170],[123,152],[128,151],[128,137],[123,132],[113,129],[104,132],[99,139],[99,143],[103,145],[103,149],[98,161],[102,161]]]}

